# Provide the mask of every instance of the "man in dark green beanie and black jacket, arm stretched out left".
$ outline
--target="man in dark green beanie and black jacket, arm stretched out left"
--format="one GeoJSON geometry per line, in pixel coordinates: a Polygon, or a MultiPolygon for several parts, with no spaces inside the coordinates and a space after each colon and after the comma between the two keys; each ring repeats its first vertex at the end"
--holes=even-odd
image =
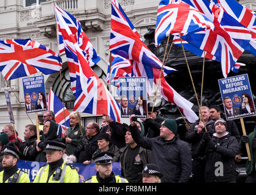
{"type": "Polygon", "coordinates": [[[142,137],[135,125],[130,122],[132,138],[141,147],[151,150],[151,162],[161,168],[162,182],[186,183],[192,169],[191,154],[189,145],[177,135],[176,121],[165,119],[160,127],[160,136],[155,138],[142,137]]]}

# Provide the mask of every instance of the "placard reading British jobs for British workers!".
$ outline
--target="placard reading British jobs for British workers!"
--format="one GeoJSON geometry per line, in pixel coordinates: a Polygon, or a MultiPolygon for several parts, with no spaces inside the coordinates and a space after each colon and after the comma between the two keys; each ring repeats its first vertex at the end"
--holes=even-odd
{"type": "Polygon", "coordinates": [[[26,113],[47,110],[43,76],[22,79],[26,113]]]}

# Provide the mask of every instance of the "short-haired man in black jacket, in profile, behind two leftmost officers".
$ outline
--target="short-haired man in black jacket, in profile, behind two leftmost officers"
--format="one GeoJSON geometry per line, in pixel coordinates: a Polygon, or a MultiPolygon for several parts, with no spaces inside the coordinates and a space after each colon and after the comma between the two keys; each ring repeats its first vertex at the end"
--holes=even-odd
{"type": "Polygon", "coordinates": [[[21,159],[34,161],[35,158],[29,156],[29,151],[32,150],[34,143],[37,139],[36,126],[34,124],[28,124],[25,126],[24,139],[24,142],[15,139],[15,145],[18,147],[20,153],[22,154],[21,159]]]}

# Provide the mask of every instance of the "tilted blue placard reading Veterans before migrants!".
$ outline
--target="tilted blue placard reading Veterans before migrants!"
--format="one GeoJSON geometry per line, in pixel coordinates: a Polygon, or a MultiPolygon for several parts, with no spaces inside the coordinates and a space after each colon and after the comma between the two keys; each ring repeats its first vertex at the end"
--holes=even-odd
{"type": "Polygon", "coordinates": [[[219,79],[219,87],[227,120],[255,115],[248,74],[219,79]]]}

